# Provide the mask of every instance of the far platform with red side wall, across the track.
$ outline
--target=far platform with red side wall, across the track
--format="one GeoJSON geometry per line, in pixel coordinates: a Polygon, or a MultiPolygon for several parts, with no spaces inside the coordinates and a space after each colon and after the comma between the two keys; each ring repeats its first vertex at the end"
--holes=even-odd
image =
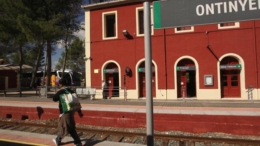
{"type": "MultiPolygon", "coordinates": [[[[35,94],[35,93],[34,93],[35,94]]],[[[84,117],[75,121],[103,127],[146,127],[145,99],[80,98],[84,117]]],[[[260,101],[247,100],[153,100],[154,128],[191,133],[223,132],[260,136],[260,101]]],[[[0,116],[4,118],[58,118],[58,102],[38,96],[0,96],[0,116]]]]}

